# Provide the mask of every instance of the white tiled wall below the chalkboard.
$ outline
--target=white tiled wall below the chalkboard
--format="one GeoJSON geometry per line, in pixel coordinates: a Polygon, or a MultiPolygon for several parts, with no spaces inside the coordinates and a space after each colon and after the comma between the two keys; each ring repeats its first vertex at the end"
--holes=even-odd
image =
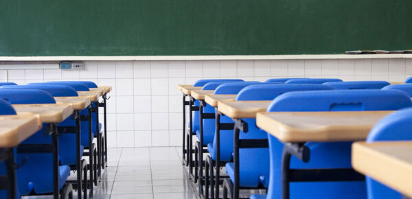
{"type": "MultiPolygon", "coordinates": [[[[181,93],[176,84],[202,78],[310,77],[402,82],[412,76],[412,59],[88,61],[84,71],[0,70],[0,81],[27,84],[91,80],[111,85],[109,147],[181,145],[181,93]]],[[[2,63],[4,64],[4,63],[2,63]]],[[[16,63],[12,64],[30,64],[16,63]]],[[[100,120],[102,121],[102,119],[100,120]]]]}

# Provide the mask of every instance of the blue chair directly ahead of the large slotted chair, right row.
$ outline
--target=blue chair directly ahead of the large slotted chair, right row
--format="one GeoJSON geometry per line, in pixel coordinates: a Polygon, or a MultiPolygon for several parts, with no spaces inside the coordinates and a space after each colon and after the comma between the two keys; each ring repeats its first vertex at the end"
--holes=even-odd
{"type": "MultiPolygon", "coordinates": [[[[247,86],[238,93],[237,101],[273,100],[278,95],[291,91],[332,90],[332,87],[321,84],[265,84],[247,86]]],[[[256,119],[242,119],[248,124],[248,132],[240,131],[240,139],[267,139],[267,134],[256,126],[256,119]]],[[[234,135],[236,136],[236,134],[234,135]]],[[[232,140],[222,141],[225,145],[232,140]]],[[[235,149],[236,151],[236,149],[235,149]]],[[[239,149],[240,187],[268,187],[269,177],[268,148],[239,149]]],[[[231,183],[234,183],[234,163],[225,165],[231,183]]]]}

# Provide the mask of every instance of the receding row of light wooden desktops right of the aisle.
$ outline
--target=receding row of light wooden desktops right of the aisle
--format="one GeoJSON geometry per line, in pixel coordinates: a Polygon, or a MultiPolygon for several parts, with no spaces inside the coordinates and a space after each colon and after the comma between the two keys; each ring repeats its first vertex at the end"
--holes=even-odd
{"type": "Polygon", "coordinates": [[[259,128],[284,143],[361,141],[352,146],[354,169],[412,196],[412,141],[363,142],[371,128],[392,111],[266,113],[271,101],[236,101],[236,95],[214,95],[201,87],[178,88],[232,119],[256,118],[259,128]]]}

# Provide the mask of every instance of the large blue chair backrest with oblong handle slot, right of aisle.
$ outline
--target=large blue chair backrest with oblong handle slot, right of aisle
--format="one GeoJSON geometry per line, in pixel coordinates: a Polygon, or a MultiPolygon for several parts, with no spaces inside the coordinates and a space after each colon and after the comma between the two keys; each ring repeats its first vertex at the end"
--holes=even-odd
{"type": "Polygon", "coordinates": [[[268,107],[271,111],[339,111],[398,110],[411,106],[409,96],[402,91],[335,90],[300,91],[276,97],[268,107]],[[297,106],[299,105],[299,106],[297,106]]]}

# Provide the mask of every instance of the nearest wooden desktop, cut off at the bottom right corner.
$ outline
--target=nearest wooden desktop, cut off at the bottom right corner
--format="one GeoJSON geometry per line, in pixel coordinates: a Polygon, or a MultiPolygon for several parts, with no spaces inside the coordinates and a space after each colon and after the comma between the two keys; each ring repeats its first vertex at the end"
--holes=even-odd
{"type": "Polygon", "coordinates": [[[358,172],[412,197],[412,141],[356,142],[352,166],[358,172]]]}

